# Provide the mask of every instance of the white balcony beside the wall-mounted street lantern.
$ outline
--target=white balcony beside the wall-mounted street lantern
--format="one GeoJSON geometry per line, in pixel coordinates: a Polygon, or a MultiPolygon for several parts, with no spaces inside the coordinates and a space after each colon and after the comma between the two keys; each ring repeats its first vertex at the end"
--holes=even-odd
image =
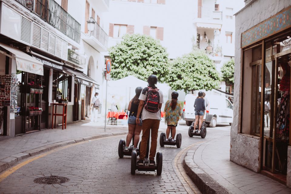
{"type": "Polygon", "coordinates": [[[82,39],[99,52],[106,52],[108,47],[108,35],[95,23],[92,33],[84,34],[82,39]]]}

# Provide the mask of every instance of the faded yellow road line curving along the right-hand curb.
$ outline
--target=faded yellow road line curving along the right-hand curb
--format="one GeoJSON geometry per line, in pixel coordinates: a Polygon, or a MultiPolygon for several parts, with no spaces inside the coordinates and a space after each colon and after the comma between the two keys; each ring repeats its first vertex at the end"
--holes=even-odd
{"type": "Polygon", "coordinates": [[[184,188],[186,189],[186,191],[188,193],[201,193],[199,191],[199,189],[196,187],[196,185],[194,184],[194,182],[189,178],[189,176],[186,174],[186,172],[184,171],[184,168],[182,166],[182,164],[178,163],[178,161],[180,160],[181,156],[183,153],[187,152],[190,147],[192,146],[195,146],[196,144],[199,144],[201,142],[204,142],[204,141],[199,141],[199,142],[196,142],[196,143],[193,143],[185,148],[183,148],[175,157],[174,159],[174,168],[176,169],[175,172],[176,172],[176,175],[177,177],[180,179],[180,182],[182,183],[182,185],[184,186],[183,182],[186,182],[187,185],[189,186],[189,189],[188,186],[184,186],[184,188]]]}

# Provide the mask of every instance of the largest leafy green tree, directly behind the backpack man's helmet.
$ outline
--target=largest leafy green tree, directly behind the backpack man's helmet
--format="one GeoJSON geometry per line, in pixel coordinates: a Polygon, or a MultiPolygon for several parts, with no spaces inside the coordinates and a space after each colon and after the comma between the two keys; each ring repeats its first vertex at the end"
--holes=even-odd
{"type": "Polygon", "coordinates": [[[126,34],[122,38],[123,41],[109,48],[112,59],[111,77],[121,79],[133,75],[146,80],[153,74],[159,82],[164,82],[169,64],[166,49],[160,42],[140,34],[126,34]]]}

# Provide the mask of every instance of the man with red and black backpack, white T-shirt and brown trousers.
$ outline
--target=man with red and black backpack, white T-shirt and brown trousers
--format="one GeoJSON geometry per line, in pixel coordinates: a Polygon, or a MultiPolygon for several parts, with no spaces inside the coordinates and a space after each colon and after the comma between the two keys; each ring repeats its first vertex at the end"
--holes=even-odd
{"type": "Polygon", "coordinates": [[[140,145],[140,154],[137,165],[144,165],[146,147],[150,132],[152,142],[149,152],[149,165],[155,165],[158,131],[161,121],[161,107],[162,103],[164,103],[162,91],[155,86],[157,82],[158,78],[156,75],[150,75],[148,77],[148,87],[144,88],[139,96],[140,101],[136,116],[136,124],[140,123],[139,116],[142,112],[142,141],[140,145]]]}

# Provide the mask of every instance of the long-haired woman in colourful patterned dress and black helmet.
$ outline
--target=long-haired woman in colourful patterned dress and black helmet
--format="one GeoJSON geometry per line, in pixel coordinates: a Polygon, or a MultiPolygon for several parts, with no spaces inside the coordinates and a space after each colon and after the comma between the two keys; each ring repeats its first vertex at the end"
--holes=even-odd
{"type": "Polygon", "coordinates": [[[172,142],[176,140],[176,127],[178,125],[179,118],[181,116],[182,105],[178,100],[178,92],[172,92],[172,99],[168,100],[165,104],[165,122],[167,123],[167,131],[166,131],[166,141],[169,140],[170,131],[172,129],[172,142]]]}

